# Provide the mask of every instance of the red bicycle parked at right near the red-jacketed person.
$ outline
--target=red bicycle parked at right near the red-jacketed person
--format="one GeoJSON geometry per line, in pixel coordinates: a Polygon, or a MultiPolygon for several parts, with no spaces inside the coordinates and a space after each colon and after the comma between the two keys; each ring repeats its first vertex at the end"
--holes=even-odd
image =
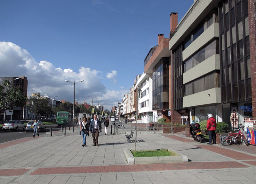
{"type": "Polygon", "coordinates": [[[247,140],[247,138],[245,137],[244,133],[241,130],[235,133],[230,132],[228,135],[221,135],[220,143],[224,146],[230,145],[232,141],[236,143],[238,136],[241,137],[241,142],[244,142],[247,146],[250,145],[249,141],[247,140]]]}

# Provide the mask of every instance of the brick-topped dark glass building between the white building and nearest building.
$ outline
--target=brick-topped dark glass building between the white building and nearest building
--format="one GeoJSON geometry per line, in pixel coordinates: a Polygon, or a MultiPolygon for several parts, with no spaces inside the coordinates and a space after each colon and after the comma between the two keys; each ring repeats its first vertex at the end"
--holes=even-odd
{"type": "Polygon", "coordinates": [[[144,60],[144,73],[152,77],[153,121],[168,116],[169,109],[169,38],[158,34],[158,45],[152,47],[144,60]]]}

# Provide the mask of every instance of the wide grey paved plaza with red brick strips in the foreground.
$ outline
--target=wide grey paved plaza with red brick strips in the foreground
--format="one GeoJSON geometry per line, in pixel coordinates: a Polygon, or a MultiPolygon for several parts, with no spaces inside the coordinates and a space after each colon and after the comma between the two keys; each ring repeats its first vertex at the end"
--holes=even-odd
{"type": "MultiPolygon", "coordinates": [[[[82,147],[78,129],[53,136],[22,138],[0,144],[0,183],[256,183],[256,146],[207,145],[183,133],[138,132],[137,150],[171,148],[188,163],[128,165],[125,149],[134,149],[124,134],[100,133],[82,147]]],[[[125,125],[125,131],[129,128],[125,125]]]]}

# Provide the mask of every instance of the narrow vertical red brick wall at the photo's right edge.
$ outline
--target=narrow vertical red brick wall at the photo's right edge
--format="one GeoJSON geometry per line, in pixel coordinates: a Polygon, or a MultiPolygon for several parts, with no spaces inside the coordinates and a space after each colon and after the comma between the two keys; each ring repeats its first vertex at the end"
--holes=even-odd
{"type": "Polygon", "coordinates": [[[248,12],[249,12],[249,31],[250,31],[250,60],[251,60],[251,75],[252,75],[252,117],[256,117],[256,47],[255,47],[255,2],[254,0],[248,0],[248,12]]]}

